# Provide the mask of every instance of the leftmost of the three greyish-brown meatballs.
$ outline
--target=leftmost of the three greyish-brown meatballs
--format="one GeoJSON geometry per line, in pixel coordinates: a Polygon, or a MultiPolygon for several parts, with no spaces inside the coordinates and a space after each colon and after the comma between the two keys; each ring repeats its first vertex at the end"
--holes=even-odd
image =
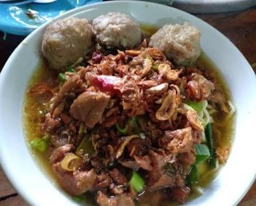
{"type": "Polygon", "coordinates": [[[43,55],[50,67],[61,71],[89,52],[92,36],[93,29],[86,19],[60,19],[51,23],[43,35],[43,55]]]}

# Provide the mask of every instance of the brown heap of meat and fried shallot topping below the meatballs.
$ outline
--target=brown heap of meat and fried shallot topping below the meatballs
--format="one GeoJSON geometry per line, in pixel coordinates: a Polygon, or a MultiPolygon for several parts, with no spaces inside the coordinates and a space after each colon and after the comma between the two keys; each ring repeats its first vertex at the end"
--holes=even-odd
{"type": "MultiPolygon", "coordinates": [[[[116,55],[99,48],[81,63],[86,66],[65,73],[65,83],[28,91],[47,107],[41,131],[50,137],[49,161],[61,186],[71,195],[94,192],[100,206],[133,206],[139,193],[131,172],[137,171],[142,190],[164,194],[152,195],[157,203],[167,197],[184,203],[204,131],[201,116],[184,105],[206,100],[228,112],[225,95],[196,66],[175,67],[147,41],[116,55]],[[73,170],[63,168],[67,154],[67,165],[77,160],[73,170]]],[[[227,153],[217,149],[219,161],[227,153]]]]}

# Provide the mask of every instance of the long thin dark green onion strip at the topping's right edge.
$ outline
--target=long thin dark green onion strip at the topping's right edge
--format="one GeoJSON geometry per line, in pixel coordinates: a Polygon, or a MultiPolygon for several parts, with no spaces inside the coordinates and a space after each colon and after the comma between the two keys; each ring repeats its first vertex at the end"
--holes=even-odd
{"type": "Polygon", "coordinates": [[[208,123],[205,127],[205,138],[207,141],[207,146],[209,147],[210,158],[209,164],[213,167],[216,166],[216,158],[215,158],[215,151],[213,147],[213,131],[211,129],[211,123],[208,123]]]}

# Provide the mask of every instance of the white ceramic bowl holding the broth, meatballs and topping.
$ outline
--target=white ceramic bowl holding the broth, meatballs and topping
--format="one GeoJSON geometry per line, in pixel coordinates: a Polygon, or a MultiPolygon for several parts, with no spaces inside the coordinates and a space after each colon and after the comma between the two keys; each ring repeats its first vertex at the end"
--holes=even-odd
{"type": "MultiPolygon", "coordinates": [[[[110,1],[74,9],[89,20],[109,11],[129,13],[141,23],[190,22],[201,30],[203,51],[221,70],[237,108],[235,141],[227,164],[205,194],[187,205],[235,205],[255,179],[256,78],[238,49],[219,31],[183,11],[143,1],[110,1]]],[[[42,35],[49,23],[31,33],[9,57],[0,75],[1,165],[18,193],[31,205],[75,205],[35,163],[23,131],[23,98],[41,58],[42,35]]]]}

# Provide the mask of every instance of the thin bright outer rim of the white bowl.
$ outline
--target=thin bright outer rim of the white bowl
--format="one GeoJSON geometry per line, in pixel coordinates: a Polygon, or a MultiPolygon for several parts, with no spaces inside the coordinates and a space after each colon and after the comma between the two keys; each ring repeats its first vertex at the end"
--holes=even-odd
{"type": "MultiPolygon", "coordinates": [[[[91,9],[93,7],[97,7],[97,6],[101,6],[101,5],[122,5],[122,3],[132,3],[132,4],[136,4],[136,5],[157,5],[158,7],[164,8],[167,7],[166,5],[159,5],[158,3],[152,3],[152,2],[145,2],[145,1],[105,1],[105,2],[101,2],[101,3],[93,3],[91,5],[85,5],[83,7],[79,7],[76,9],[72,9],[70,11],[67,11],[57,17],[54,17],[53,19],[51,19],[50,21],[48,21],[47,23],[44,23],[43,25],[41,25],[39,28],[35,29],[35,31],[33,31],[32,33],[30,33],[18,46],[17,48],[13,51],[13,53],[10,55],[10,57],[8,58],[7,62],[5,63],[1,73],[0,73],[0,88],[3,87],[3,79],[5,79],[6,73],[7,73],[7,69],[9,68],[9,65],[11,64],[11,62],[13,61],[13,58],[15,58],[15,56],[19,53],[19,50],[21,50],[21,46],[23,43],[28,42],[29,39],[31,39],[34,35],[37,34],[37,32],[42,29],[47,27],[47,25],[49,25],[51,22],[56,21],[57,19],[62,19],[63,17],[69,17],[71,15],[75,15],[77,13],[80,13],[81,11],[85,11],[87,9],[91,9]]],[[[211,27],[211,29],[213,31],[215,31],[215,33],[217,33],[217,35],[219,35],[221,38],[224,38],[225,41],[228,41],[229,44],[231,44],[233,46],[233,49],[235,49],[235,51],[237,53],[239,53],[239,55],[241,56],[241,58],[243,58],[246,62],[247,60],[245,59],[245,57],[243,56],[243,54],[239,51],[239,49],[237,49],[237,47],[235,47],[235,45],[233,45],[233,43],[227,39],[227,37],[225,37],[225,35],[223,35],[221,32],[219,32],[217,29],[215,29],[213,26],[209,25],[208,23],[206,23],[205,21],[199,19],[198,17],[195,17],[194,15],[191,15],[189,13],[186,13],[185,11],[181,11],[179,9],[175,9],[173,7],[169,7],[169,9],[173,9],[176,11],[179,11],[179,13],[183,13],[185,15],[188,15],[189,17],[193,18],[193,19],[197,19],[197,21],[200,21],[200,23],[202,23],[204,26],[207,27],[211,27]]],[[[249,65],[249,63],[247,62],[247,66],[249,65]]],[[[256,76],[255,73],[253,71],[253,69],[251,68],[251,66],[249,65],[250,68],[248,71],[249,73],[251,73],[251,75],[253,76],[253,78],[255,79],[256,82],[256,76]]],[[[255,87],[256,88],[256,87],[255,87]]],[[[0,108],[1,109],[1,108],[0,108]]],[[[1,111],[0,111],[1,112],[1,111]]],[[[235,125],[236,127],[236,125],[235,125]]],[[[27,148],[28,149],[28,148],[27,148]]],[[[27,203],[33,205],[35,204],[35,200],[33,199],[33,197],[30,197],[29,194],[24,191],[22,189],[22,185],[19,183],[19,181],[17,179],[15,179],[15,175],[14,173],[11,171],[11,166],[9,165],[9,163],[7,163],[5,161],[5,158],[3,157],[3,153],[1,151],[1,145],[0,145],[0,164],[1,167],[3,169],[3,171],[5,172],[5,175],[7,176],[7,178],[9,179],[9,181],[11,182],[11,184],[13,185],[13,187],[15,187],[15,189],[18,191],[18,193],[25,199],[25,201],[27,201],[27,203]]],[[[253,185],[253,182],[255,181],[256,178],[256,171],[255,171],[255,175],[254,178],[251,179],[251,181],[249,181],[247,183],[247,188],[244,189],[243,191],[241,191],[239,198],[237,198],[237,201],[234,202],[234,205],[236,205],[237,203],[239,203],[239,201],[241,201],[241,199],[243,198],[243,196],[247,193],[247,191],[249,190],[249,188],[251,187],[251,185],[253,185]]]]}

